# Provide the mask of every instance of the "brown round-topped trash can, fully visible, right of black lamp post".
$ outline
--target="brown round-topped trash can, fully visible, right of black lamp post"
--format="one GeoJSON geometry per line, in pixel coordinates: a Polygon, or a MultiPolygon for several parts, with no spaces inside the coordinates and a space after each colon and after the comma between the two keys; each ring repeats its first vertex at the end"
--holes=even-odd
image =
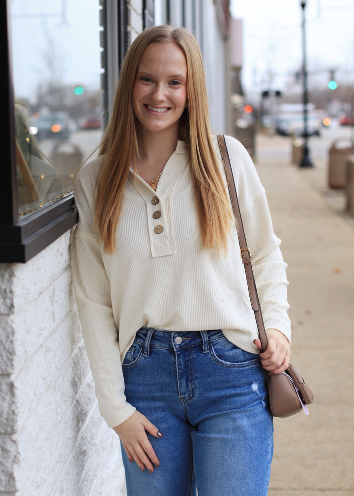
{"type": "Polygon", "coordinates": [[[345,188],[347,182],[348,155],[354,153],[354,141],[351,138],[337,138],[329,149],[328,186],[345,188]]]}

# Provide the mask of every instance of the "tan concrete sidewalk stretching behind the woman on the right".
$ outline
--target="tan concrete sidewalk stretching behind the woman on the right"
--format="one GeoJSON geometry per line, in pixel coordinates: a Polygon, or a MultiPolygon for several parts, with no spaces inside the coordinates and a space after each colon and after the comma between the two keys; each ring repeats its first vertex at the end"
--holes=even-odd
{"type": "Polygon", "coordinates": [[[274,160],[267,143],[255,164],[289,265],[291,362],[315,396],[309,416],[275,419],[269,496],[354,495],[354,222],[324,194],[323,163],[274,160]]]}

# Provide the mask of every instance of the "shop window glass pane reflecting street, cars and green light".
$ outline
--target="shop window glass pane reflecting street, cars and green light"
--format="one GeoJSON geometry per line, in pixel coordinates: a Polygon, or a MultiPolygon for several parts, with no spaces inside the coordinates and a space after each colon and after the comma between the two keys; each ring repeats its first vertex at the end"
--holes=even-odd
{"type": "Polygon", "coordinates": [[[9,3],[21,217],[70,193],[101,138],[100,7],[99,0],[9,3]]]}

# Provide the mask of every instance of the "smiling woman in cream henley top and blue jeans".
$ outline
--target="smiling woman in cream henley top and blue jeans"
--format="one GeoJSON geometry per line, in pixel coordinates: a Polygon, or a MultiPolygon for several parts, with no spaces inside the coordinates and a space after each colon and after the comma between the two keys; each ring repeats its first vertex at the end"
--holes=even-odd
{"type": "Polygon", "coordinates": [[[182,28],[141,33],[99,157],[78,174],[72,240],[85,346],[128,495],[267,494],[264,370],[289,364],[286,265],[253,164],[238,141],[227,146],[269,339],[260,356],[199,48],[182,28]]]}

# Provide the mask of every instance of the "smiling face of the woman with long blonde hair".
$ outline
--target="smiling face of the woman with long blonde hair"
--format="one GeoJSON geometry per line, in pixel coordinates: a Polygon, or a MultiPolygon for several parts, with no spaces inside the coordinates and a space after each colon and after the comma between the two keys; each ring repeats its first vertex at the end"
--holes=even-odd
{"type": "Polygon", "coordinates": [[[136,73],[132,104],[142,131],[171,132],[178,138],[187,101],[187,63],[177,43],[150,43],[136,73]]]}

